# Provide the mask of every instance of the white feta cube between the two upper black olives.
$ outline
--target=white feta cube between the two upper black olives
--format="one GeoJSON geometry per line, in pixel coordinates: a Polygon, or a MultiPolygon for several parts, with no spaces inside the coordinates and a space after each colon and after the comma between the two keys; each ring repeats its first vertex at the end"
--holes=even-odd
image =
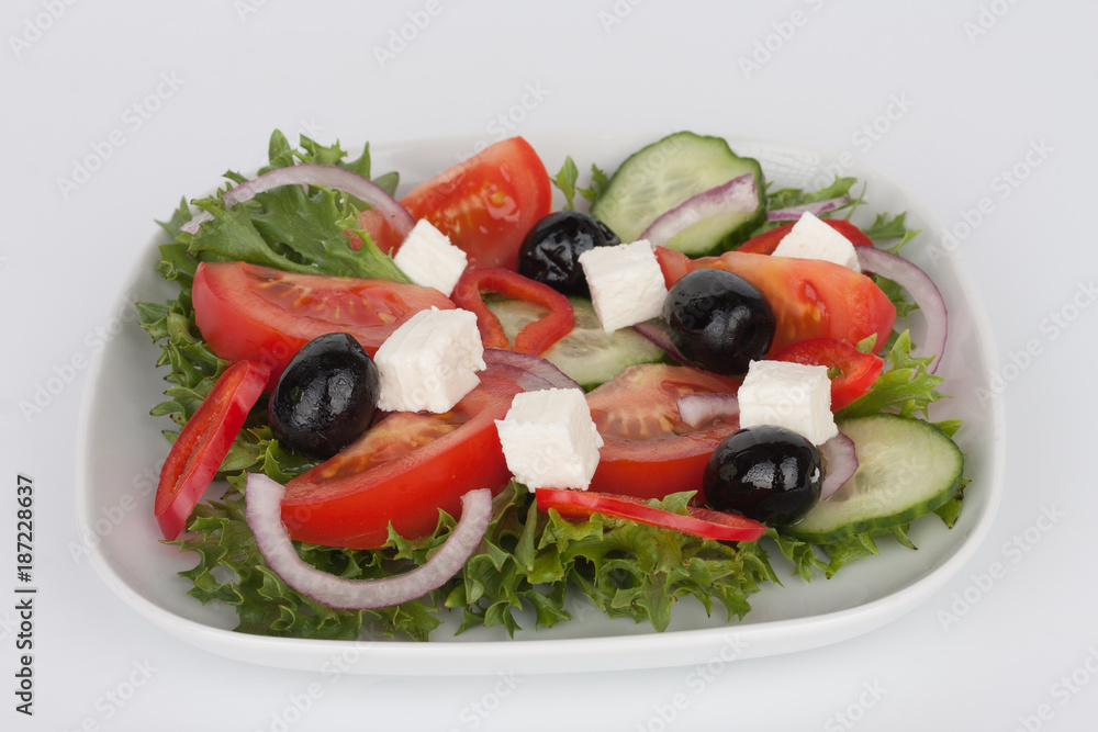
{"type": "Polygon", "coordinates": [[[663,312],[668,288],[647,239],[589,249],[580,255],[580,266],[591,288],[591,304],[606,333],[663,312]]]}

